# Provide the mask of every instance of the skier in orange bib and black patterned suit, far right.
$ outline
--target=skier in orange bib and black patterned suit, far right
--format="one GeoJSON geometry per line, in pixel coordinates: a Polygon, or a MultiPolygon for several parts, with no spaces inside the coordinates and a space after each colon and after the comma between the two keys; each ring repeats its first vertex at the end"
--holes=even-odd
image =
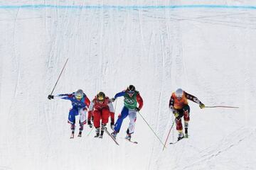
{"type": "Polygon", "coordinates": [[[200,108],[205,108],[205,105],[198,100],[195,96],[186,93],[182,89],[177,89],[171,94],[169,101],[169,108],[174,113],[176,118],[176,130],[178,130],[178,140],[181,140],[183,137],[188,137],[188,121],[190,108],[188,106],[188,100],[196,102],[199,104],[200,108]],[[184,116],[184,126],[185,126],[185,135],[183,135],[183,127],[181,123],[181,118],[184,116]]]}

